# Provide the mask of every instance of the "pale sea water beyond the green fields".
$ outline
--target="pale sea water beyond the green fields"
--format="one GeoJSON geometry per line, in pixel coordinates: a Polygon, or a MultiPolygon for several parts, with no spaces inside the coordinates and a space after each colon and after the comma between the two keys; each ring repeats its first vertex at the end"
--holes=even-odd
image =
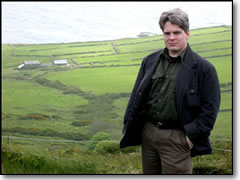
{"type": "Polygon", "coordinates": [[[190,29],[232,25],[231,2],[2,2],[2,43],[68,43],[161,34],[162,12],[181,8],[190,29]]]}

